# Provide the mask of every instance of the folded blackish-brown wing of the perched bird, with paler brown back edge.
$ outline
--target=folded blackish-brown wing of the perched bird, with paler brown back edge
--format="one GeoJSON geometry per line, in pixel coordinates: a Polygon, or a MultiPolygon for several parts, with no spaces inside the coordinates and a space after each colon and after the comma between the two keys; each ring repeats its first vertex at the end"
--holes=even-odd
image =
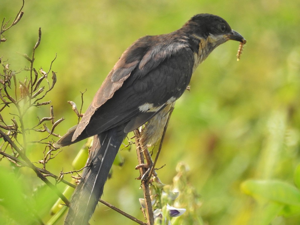
{"type": "MultiPolygon", "coordinates": [[[[72,140],[75,140],[87,126],[86,133],[92,136],[130,121],[132,118],[137,118],[137,121],[143,120],[145,123],[147,118],[154,116],[156,112],[149,113],[146,112],[148,109],[144,108],[145,112],[143,112],[139,107],[151,99],[161,98],[157,96],[158,93],[154,92],[159,87],[163,88],[161,84],[162,82],[167,82],[166,78],[172,79],[170,76],[173,76],[173,74],[170,73],[176,73],[173,70],[176,70],[178,67],[176,65],[178,62],[175,65],[172,64],[171,68],[168,68],[168,65],[164,65],[164,62],[169,61],[166,59],[177,57],[177,61],[181,62],[181,60],[186,60],[183,58],[186,55],[192,57],[190,59],[192,61],[191,65],[182,63],[182,67],[189,67],[184,68],[184,70],[191,75],[192,70],[190,68],[193,67],[193,53],[187,48],[187,43],[182,41],[172,44],[168,43],[170,40],[162,42],[160,38],[163,37],[146,36],[140,38],[122,54],[97,91],[91,105],[82,117],[72,140]],[[182,54],[183,52],[186,53],[186,51],[189,54],[182,54]],[[161,78],[160,76],[162,76],[162,79],[158,80],[161,78]],[[141,115],[143,113],[146,113],[148,116],[145,116],[145,114],[141,115]],[[137,117],[139,115],[140,117],[137,117]]],[[[159,107],[165,104],[167,100],[161,101],[159,107]]],[[[132,122],[132,124],[137,123],[132,122]]]]}

